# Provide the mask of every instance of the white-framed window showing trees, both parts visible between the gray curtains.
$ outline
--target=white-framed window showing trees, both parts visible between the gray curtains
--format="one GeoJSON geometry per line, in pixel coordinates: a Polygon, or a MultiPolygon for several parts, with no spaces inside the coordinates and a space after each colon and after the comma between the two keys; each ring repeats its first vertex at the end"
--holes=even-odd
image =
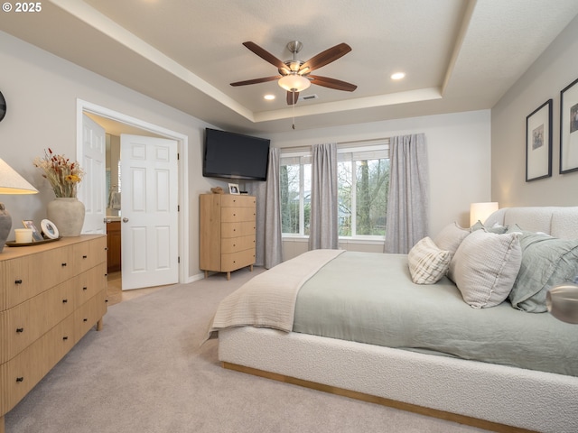
{"type": "MultiPolygon", "coordinates": [[[[280,157],[283,235],[309,235],[310,151],[280,157]]],[[[388,140],[338,146],[338,226],[340,237],[383,239],[389,189],[388,140]]]]}

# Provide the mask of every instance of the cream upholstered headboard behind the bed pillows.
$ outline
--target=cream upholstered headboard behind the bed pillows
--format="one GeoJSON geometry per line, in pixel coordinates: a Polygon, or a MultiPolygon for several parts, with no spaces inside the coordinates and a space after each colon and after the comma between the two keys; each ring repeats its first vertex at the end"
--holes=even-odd
{"type": "Polygon", "coordinates": [[[484,225],[517,224],[530,232],[544,232],[561,239],[578,239],[578,207],[503,207],[484,225]]]}

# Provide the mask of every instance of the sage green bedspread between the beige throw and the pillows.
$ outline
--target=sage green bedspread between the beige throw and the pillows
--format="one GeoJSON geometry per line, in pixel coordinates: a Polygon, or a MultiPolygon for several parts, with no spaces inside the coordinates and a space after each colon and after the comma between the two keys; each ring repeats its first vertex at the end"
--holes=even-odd
{"type": "Polygon", "coordinates": [[[578,326],[508,301],[472,309],[445,277],[414,284],[405,254],[340,254],[303,284],[293,330],[578,376],[578,326]]]}

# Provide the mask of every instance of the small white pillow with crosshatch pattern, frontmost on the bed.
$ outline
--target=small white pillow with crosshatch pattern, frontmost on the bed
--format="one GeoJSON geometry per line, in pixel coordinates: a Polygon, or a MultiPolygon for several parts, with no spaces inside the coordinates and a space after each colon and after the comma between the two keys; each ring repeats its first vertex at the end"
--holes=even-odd
{"type": "Polygon", "coordinates": [[[409,272],[416,284],[434,284],[448,272],[452,254],[440,250],[429,237],[420,240],[407,254],[409,272]]]}

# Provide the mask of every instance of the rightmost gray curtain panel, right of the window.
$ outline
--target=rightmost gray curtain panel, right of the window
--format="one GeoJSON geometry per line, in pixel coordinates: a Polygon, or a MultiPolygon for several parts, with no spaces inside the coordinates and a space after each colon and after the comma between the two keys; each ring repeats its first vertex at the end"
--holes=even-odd
{"type": "Polygon", "coordinates": [[[392,137],[385,253],[408,253],[429,229],[429,169],[424,134],[392,137]]]}

